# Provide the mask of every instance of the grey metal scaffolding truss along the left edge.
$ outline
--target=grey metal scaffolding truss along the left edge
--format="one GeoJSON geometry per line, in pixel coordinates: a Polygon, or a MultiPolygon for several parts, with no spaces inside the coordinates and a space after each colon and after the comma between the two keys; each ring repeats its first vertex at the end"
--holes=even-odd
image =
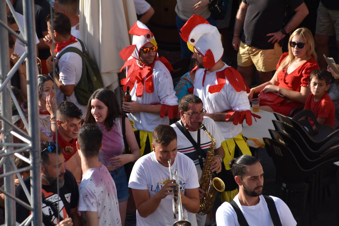
{"type": "Polygon", "coordinates": [[[41,169],[40,169],[40,136],[39,136],[39,115],[38,115],[38,90],[37,90],[37,66],[36,66],[36,42],[35,42],[35,14],[34,1],[23,0],[24,26],[20,24],[14,8],[9,0],[0,0],[0,99],[1,114],[0,120],[3,133],[2,150],[0,151],[0,166],[3,165],[4,173],[0,178],[4,178],[4,190],[0,192],[5,194],[5,225],[16,225],[15,202],[24,206],[32,212],[29,217],[20,225],[42,225],[41,211],[41,169]],[[19,30],[23,37],[16,34],[7,26],[6,3],[8,4],[13,17],[17,21],[19,30]],[[25,44],[25,53],[18,62],[9,70],[9,51],[8,51],[8,33],[16,36],[25,44]],[[27,75],[27,100],[28,100],[28,122],[25,119],[24,112],[16,100],[11,87],[11,78],[18,69],[19,65],[26,59],[27,75]],[[12,123],[12,105],[16,106],[20,117],[28,128],[28,135],[12,123]],[[14,143],[13,136],[20,139],[22,143],[14,143]],[[30,158],[27,159],[18,152],[29,150],[30,158]],[[17,169],[13,156],[29,163],[28,167],[17,169]],[[31,170],[31,192],[27,188],[20,176],[20,172],[31,170]],[[15,198],[14,192],[14,174],[23,186],[29,204],[15,198]]]}

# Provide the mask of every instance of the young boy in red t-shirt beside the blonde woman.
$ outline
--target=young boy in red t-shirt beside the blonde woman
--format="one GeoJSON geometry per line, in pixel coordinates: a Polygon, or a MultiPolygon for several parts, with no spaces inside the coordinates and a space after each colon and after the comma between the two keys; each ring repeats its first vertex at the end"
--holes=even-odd
{"type": "MultiPolygon", "coordinates": [[[[308,95],[304,109],[313,111],[318,123],[334,126],[335,108],[326,90],[330,87],[331,74],[324,69],[312,71],[310,75],[311,94],[308,95]]],[[[310,120],[313,130],[317,131],[310,120]]]]}

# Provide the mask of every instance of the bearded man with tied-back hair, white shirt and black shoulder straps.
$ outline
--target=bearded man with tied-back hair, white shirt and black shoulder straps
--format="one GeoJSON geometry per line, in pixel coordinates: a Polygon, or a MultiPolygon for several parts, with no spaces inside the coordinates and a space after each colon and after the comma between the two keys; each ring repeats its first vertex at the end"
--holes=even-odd
{"type": "Polygon", "coordinates": [[[297,225],[291,210],[279,198],[263,196],[264,172],[253,156],[243,155],[230,162],[239,193],[230,203],[224,202],[216,212],[218,226],[297,225]],[[274,214],[275,212],[275,214],[274,214]],[[243,223],[244,222],[244,223],[243,223]],[[273,224],[272,224],[273,223],[273,224]]]}

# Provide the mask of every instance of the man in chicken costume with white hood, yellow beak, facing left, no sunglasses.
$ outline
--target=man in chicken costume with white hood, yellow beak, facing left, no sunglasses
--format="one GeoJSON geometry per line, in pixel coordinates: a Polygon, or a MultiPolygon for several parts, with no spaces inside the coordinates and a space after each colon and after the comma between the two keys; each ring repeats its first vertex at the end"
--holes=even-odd
{"type": "Polygon", "coordinates": [[[250,89],[242,76],[221,61],[223,47],[218,29],[203,17],[193,15],[180,30],[196,62],[192,70],[192,73],[195,72],[194,94],[203,101],[207,111],[205,116],[216,122],[225,139],[222,147],[226,170],[221,173],[222,179],[227,181],[221,197],[222,201],[231,201],[238,190],[228,163],[240,155],[251,155],[246,139],[241,134],[241,123],[245,119],[248,125],[252,125],[252,115],[257,118],[260,116],[250,111],[246,94],[250,89]]]}

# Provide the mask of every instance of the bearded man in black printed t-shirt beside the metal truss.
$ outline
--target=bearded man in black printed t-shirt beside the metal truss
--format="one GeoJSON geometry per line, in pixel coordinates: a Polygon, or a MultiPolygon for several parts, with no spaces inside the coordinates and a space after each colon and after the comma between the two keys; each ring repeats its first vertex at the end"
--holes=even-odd
{"type": "MultiPolygon", "coordinates": [[[[79,199],[78,186],[71,172],[65,170],[65,159],[55,143],[41,142],[41,191],[42,191],[42,222],[44,226],[60,225],[72,226],[81,225],[77,213],[79,199]],[[57,168],[58,166],[58,168],[57,168]],[[58,171],[57,171],[58,169],[58,171]],[[57,183],[59,177],[59,184],[57,183]],[[59,194],[57,188],[59,185],[59,194]],[[60,218],[58,220],[58,210],[60,218]]],[[[23,180],[27,188],[30,186],[30,177],[23,180]]],[[[29,189],[28,189],[29,190],[29,189]]],[[[15,197],[23,202],[29,203],[22,186],[15,188],[15,197]]],[[[16,221],[23,222],[31,212],[20,204],[16,203],[16,221]]]]}

